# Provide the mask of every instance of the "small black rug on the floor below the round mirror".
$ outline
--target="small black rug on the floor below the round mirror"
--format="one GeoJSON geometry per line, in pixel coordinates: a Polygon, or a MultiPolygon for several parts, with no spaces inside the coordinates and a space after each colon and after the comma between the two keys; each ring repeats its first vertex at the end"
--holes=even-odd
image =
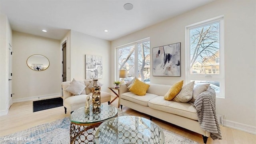
{"type": "Polygon", "coordinates": [[[33,102],[33,112],[38,112],[40,110],[47,110],[50,108],[56,108],[63,106],[63,99],[59,98],[50,98],[46,100],[37,100],[33,102]]]}

